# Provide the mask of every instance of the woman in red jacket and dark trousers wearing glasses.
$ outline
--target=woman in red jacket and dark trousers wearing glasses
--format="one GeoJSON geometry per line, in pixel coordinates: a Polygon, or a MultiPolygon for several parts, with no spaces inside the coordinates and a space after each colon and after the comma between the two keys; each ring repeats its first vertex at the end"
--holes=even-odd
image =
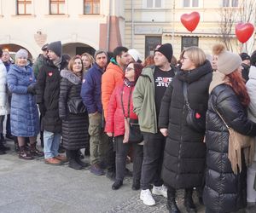
{"type": "Polygon", "coordinates": [[[117,190],[123,185],[126,157],[131,146],[134,151],[132,189],[138,190],[140,188],[143,146],[137,143],[131,144],[127,139],[125,132],[128,131],[128,127],[125,125],[125,118],[137,119],[137,115],[133,112],[132,92],[142,70],[141,64],[131,62],[125,69],[124,83],[113,90],[108,104],[105,131],[109,137],[114,135],[116,145],[116,176],[112,185],[113,190],[117,190]]]}

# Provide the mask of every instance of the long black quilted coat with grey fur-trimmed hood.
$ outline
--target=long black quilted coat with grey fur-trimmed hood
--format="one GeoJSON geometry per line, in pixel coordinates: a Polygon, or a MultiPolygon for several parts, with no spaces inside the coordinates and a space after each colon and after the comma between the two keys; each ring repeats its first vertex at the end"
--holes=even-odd
{"type": "Polygon", "coordinates": [[[59,113],[62,119],[63,147],[67,150],[84,148],[88,142],[88,115],[86,112],[70,113],[67,103],[70,100],[81,101],[81,78],[73,72],[61,71],[61,90],[59,100],[59,113]]]}

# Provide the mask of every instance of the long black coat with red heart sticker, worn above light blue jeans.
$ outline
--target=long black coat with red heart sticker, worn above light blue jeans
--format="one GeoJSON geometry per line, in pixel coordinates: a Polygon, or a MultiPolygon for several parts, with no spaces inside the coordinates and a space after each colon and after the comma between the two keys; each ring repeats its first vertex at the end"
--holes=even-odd
{"type": "MultiPolygon", "coordinates": [[[[59,117],[59,95],[62,69],[67,67],[67,61],[61,60],[58,68],[51,60],[42,66],[37,80],[37,103],[44,106],[45,115],[42,118],[43,129],[49,132],[61,133],[59,117]]],[[[42,112],[41,112],[42,113],[42,112]]]]}

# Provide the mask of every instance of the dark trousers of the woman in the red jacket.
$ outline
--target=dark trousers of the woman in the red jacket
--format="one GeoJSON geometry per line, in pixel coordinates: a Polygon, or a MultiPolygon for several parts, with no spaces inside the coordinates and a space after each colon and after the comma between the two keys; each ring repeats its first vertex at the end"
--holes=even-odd
{"type": "Polygon", "coordinates": [[[123,143],[124,135],[115,138],[116,147],[116,176],[117,181],[123,181],[125,177],[125,164],[130,147],[133,148],[133,181],[140,181],[143,164],[143,146],[137,143],[123,143]]]}

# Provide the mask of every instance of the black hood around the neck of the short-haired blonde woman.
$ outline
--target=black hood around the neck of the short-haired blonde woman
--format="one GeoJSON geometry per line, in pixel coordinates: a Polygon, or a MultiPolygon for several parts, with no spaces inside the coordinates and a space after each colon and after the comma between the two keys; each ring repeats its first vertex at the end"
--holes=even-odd
{"type": "Polygon", "coordinates": [[[208,73],[212,72],[212,66],[209,60],[206,60],[206,62],[196,67],[194,70],[190,71],[183,71],[179,70],[177,72],[177,78],[181,81],[192,83],[200,79],[202,76],[207,75],[208,73]]]}

